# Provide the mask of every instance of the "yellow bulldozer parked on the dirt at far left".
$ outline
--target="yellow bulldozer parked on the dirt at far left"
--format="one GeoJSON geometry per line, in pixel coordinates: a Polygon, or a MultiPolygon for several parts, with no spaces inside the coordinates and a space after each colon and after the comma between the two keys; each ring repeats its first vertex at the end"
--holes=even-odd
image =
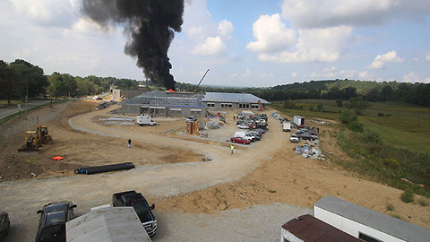
{"type": "Polygon", "coordinates": [[[51,143],[52,136],[47,132],[46,125],[39,125],[36,131],[27,131],[25,134],[24,144],[19,152],[39,151],[42,143],[51,143]]]}

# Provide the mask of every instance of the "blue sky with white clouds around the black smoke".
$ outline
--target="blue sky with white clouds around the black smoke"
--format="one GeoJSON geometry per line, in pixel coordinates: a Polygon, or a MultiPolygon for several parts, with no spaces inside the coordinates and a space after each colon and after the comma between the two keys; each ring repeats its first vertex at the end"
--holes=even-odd
{"type": "MultiPolygon", "coordinates": [[[[0,0],[0,59],[46,74],[146,80],[121,26],[81,0],[0,0]]],[[[185,0],[168,57],[176,82],[271,87],[349,79],[430,82],[430,1],[185,0]]]]}

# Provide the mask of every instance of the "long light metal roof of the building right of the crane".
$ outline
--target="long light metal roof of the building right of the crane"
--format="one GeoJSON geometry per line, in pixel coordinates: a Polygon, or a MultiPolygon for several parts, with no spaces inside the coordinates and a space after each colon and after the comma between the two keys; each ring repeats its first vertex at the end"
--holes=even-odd
{"type": "Polygon", "coordinates": [[[225,101],[225,102],[237,102],[237,103],[257,103],[261,101],[262,104],[269,104],[265,99],[254,96],[250,93],[227,93],[227,92],[206,92],[202,101],[225,101]]]}

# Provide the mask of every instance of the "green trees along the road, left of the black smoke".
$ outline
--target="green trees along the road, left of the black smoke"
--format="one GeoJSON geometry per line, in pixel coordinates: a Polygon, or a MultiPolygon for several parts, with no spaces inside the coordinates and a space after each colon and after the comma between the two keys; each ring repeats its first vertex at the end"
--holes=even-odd
{"type": "Polygon", "coordinates": [[[112,85],[118,89],[138,89],[139,84],[150,85],[150,82],[57,72],[46,75],[41,67],[22,59],[12,63],[0,60],[0,99],[9,104],[11,99],[47,98],[47,95],[54,98],[96,95],[109,91],[112,85]]]}

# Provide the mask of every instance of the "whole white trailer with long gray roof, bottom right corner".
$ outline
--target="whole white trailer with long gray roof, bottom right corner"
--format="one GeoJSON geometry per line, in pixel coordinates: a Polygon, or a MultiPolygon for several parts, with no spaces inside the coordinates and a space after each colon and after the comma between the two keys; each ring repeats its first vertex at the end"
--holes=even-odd
{"type": "Polygon", "coordinates": [[[430,229],[328,195],[314,203],[314,217],[365,241],[428,242],[430,229]]]}

